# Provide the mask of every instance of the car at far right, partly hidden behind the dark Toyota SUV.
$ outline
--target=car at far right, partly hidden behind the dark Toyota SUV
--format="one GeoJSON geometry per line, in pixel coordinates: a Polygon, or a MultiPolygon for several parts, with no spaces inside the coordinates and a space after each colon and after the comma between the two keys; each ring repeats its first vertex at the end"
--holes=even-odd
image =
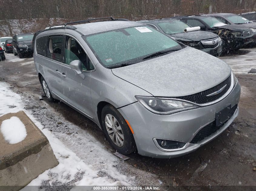
{"type": "MultiPolygon", "coordinates": [[[[248,27],[252,30],[254,42],[256,42],[256,23],[253,21],[250,21],[244,17],[241,17],[237,14],[231,14],[231,13],[218,13],[218,14],[208,14],[209,16],[213,16],[220,21],[224,22],[225,24],[236,24],[242,27],[248,27]]],[[[243,31],[242,36],[248,36],[250,34],[250,31],[243,31]]]]}

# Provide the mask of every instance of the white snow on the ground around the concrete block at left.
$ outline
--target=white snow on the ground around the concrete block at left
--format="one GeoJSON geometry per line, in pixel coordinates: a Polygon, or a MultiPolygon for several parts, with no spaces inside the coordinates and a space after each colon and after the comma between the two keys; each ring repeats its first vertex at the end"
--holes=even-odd
{"type": "MultiPolygon", "coordinates": [[[[10,89],[8,84],[0,83],[0,116],[6,113],[14,113],[19,110],[24,110],[22,97],[10,89]]],[[[36,126],[48,138],[50,145],[58,159],[58,166],[46,170],[40,174],[36,179],[32,180],[28,186],[40,186],[44,182],[48,185],[58,183],[59,185],[117,185],[118,181],[110,179],[106,176],[99,176],[98,171],[93,169],[93,166],[81,160],[74,152],[68,149],[63,143],[53,135],[48,129],[45,129],[41,123],[36,121],[31,112],[24,110],[24,112],[32,119],[36,126]],[[71,182],[71,183],[70,183],[71,182]]],[[[13,119],[12,119],[13,120],[13,119]]],[[[5,124],[4,124],[5,129],[5,124]]],[[[2,126],[1,126],[2,130],[2,126]]],[[[125,176],[120,175],[123,179],[125,176]]],[[[125,183],[124,181],[122,183],[125,183]]],[[[27,189],[27,188],[26,188],[27,189]]],[[[40,187],[38,187],[38,190],[40,187]]],[[[33,187],[33,190],[35,188],[33,187]]]]}

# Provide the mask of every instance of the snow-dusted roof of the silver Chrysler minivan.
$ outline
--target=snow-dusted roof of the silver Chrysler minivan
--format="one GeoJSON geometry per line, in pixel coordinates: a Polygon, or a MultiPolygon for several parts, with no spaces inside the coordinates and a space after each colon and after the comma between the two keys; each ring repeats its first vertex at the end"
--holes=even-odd
{"type": "Polygon", "coordinates": [[[136,21],[101,21],[86,24],[72,25],[76,30],[84,35],[105,32],[108,30],[121,29],[126,27],[141,26],[141,23],[136,21]]]}

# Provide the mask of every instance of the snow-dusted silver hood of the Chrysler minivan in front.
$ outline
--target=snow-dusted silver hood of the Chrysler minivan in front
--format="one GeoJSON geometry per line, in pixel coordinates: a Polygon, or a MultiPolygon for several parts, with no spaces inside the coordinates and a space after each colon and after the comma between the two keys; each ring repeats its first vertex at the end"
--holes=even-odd
{"type": "Polygon", "coordinates": [[[155,59],[113,68],[112,72],[153,96],[176,97],[218,85],[228,78],[231,68],[208,53],[186,47],[155,59]]]}

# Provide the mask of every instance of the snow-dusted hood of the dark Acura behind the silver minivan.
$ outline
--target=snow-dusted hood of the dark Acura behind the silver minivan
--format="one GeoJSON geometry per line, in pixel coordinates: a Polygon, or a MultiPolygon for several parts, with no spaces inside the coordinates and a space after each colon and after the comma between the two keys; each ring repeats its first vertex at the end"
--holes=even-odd
{"type": "Polygon", "coordinates": [[[184,38],[192,41],[200,41],[200,40],[206,40],[206,39],[218,37],[217,34],[201,31],[201,30],[191,31],[187,33],[176,33],[176,34],[171,34],[170,36],[177,37],[177,38],[184,38]]]}

